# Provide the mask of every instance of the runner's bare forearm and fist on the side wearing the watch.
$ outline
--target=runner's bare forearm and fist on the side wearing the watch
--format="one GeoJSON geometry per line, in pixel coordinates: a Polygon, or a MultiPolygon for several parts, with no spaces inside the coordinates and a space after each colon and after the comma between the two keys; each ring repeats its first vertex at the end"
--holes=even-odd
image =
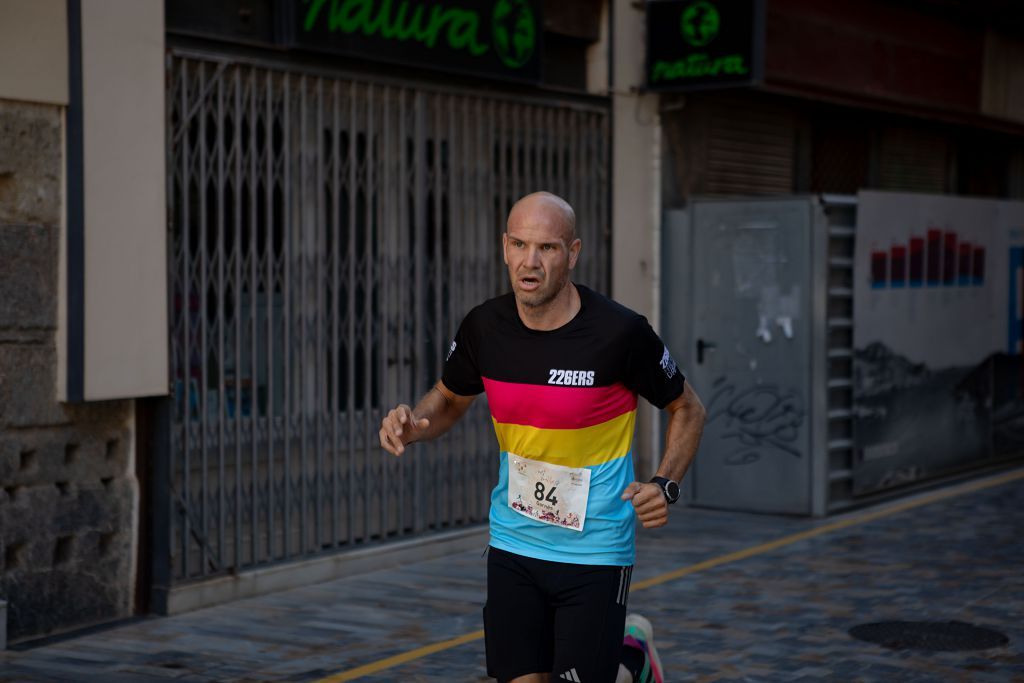
{"type": "MultiPolygon", "coordinates": [[[[706,412],[689,382],[683,386],[683,393],[665,410],[669,413],[669,426],[665,432],[665,455],[658,465],[657,476],[678,482],[697,453],[706,412]]],[[[633,502],[633,509],[644,528],[669,523],[669,502],[656,483],[634,481],[623,492],[623,500],[633,502]]]]}

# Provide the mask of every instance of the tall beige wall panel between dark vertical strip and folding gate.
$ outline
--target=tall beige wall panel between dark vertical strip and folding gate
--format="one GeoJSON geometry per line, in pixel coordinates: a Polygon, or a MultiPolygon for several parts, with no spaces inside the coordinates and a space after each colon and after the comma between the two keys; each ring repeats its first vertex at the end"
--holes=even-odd
{"type": "Polygon", "coordinates": [[[167,392],[164,7],[82,3],[84,397],[167,392]]]}

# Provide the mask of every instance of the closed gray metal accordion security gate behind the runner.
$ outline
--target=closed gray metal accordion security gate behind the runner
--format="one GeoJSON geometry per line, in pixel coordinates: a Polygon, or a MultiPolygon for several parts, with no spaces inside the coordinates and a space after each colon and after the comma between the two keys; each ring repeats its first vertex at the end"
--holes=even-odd
{"type": "Polygon", "coordinates": [[[607,105],[176,51],[168,68],[171,582],[484,521],[482,397],[402,458],[378,426],[507,290],[521,195],[573,205],[575,279],[607,290],[607,105]]]}

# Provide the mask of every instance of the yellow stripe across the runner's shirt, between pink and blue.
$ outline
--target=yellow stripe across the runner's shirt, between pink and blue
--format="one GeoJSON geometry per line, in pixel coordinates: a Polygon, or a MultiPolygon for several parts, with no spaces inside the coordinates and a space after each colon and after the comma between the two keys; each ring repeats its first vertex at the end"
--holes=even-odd
{"type": "Polygon", "coordinates": [[[553,465],[588,467],[622,458],[630,452],[636,411],[580,429],[540,429],[505,424],[494,418],[492,422],[502,451],[553,465]]]}

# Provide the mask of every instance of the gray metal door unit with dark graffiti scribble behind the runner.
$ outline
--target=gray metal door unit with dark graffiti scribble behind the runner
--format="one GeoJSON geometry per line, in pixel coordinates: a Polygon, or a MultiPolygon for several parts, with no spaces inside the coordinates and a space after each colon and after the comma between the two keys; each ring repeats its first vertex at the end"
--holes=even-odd
{"type": "Polygon", "coordinates": [[[854,210],[802,197],[666,213],[663,333],[708,409],[691,504],[804,515],[849,505],[854,210]]]}

